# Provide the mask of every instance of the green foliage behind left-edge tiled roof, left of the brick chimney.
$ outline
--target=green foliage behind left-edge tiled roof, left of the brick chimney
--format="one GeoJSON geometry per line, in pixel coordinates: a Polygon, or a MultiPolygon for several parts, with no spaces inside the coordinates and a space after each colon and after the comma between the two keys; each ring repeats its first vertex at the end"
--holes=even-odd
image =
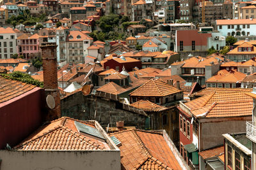
{"type": "Polygon", "coordinates": [[[29,74],[24,74],[24,73],[21,73],[20,71],[15,71],[15,72],[10,73],[10,74],[0,74],[0,75],[3,76],[6,79],[21,81],[21,82],[24,82],[24,83],[35,85],[37,87],[44,88],[44,83],[43,82],[35,80],[29,74]]]}

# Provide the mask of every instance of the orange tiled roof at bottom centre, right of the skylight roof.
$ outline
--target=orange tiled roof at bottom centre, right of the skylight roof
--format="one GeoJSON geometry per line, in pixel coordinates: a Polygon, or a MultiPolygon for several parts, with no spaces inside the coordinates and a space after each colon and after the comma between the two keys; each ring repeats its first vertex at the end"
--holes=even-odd
{"type": "Polygon", "coordinates": [[[118,148],[124,169],[181,169],[163,134],[127,130],[110,136],[122,143],[118,148]]]}

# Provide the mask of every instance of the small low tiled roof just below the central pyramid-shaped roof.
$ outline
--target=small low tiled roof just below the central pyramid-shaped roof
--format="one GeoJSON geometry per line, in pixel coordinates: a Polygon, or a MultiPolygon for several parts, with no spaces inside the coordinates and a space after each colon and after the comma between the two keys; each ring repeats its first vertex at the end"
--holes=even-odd
{"type": "Polygon", "coordinates": [[[163,111],[163,110],[168,110],[168,108],[164,106],[160,106],[156,103],[152,103],[150,101],[137,101],[136,103],[132,103],[131,106],[134,106],[135,108],[140,108],[144,111],[163,111]]]}

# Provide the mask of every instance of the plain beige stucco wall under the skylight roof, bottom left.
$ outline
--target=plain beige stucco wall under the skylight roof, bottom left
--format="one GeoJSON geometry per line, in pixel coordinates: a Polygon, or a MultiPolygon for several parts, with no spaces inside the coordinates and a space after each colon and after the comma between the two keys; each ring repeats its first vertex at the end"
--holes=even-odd
{"type": "Polygon", "coordinates": [[[120,169],[120,151],[1,150],[1,169],[120,169]]]}

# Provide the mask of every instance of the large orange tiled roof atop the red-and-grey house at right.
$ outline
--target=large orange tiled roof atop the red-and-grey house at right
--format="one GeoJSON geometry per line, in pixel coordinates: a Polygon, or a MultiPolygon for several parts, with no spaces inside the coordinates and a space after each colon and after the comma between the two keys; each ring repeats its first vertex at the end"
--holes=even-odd
{"type": "Polygon", "coordinates": [[[196,117],[252,116],[253,101],[246,92],[215,93],[184,103],[196,117]]]}

